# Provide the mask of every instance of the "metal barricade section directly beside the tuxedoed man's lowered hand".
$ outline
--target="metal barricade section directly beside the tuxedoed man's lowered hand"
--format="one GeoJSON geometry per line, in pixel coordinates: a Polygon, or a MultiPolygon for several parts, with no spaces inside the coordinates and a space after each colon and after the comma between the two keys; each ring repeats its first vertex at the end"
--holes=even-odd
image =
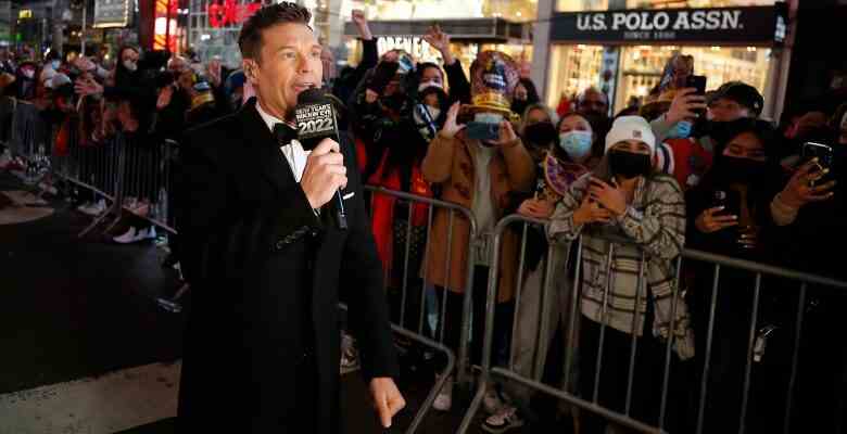
{"type": "MultiPolygon", "coordinates": [[[[441,373],[438,376],[438,380],[435,381],[435,384],[430,390],[427,398],[421,404],[420,409],[416,413],[414,421],[407,429],[407,433],[415,432],[419,426],[420,423],[423,421],[423,418],[426,414],[430,411],[432,408],[432,403],[435,400],[435,397],[438,396],[438,393],[442,390],[442,387],[445,385],[447,376],[451,375],[454,371],[454,367],[456,368],[456,376],[459,383],[468,382],[470,381],[470,372],[468,367],[468,342],[470,336],[470,311],[471,311],[471,296],[472,294],[472,288],[473,288],[473,266],[472,266],[472,245],[476,240],[477,235],[477,224],[476,219],[472,215],[472,213],[459,205],[439,201],[430,197],[423,197],[418,196],[405,192],[400,191],[393,191],[388,190],[381,187],[374,187],[374,186],[365,186],[365,190],[371,194],[371,210],[374,209],[374,201],[377,197],[377,195],[384,195],[387,197],[392,197],[395,200],[394,202],[394,208],[396,209],[396,205],[400,203],[404,203],[408,205],[408,214],[406,215],[407,219],[405,221],[405,242],[402,251],[402,257],[403,257],[403,266],[399,270],[395,270],[399,275],[402,275],[402,282],[401,282],[401,301],[400,301],[400,312],[399,312],[399,320],[392,321],[392,328],[394,331],[407,339],[414,340],[417,343],[423,345],[425,347],[431,348],[435,352],[442,353],[447,358],[446,367],[441,370],[441,373]],[[415,209],[414,205],[425,205],[427,207],[427,228],[426,228],[426,247],[422,253],[422,265],[421,268],[416,268],[409,265],[409,256],[412,251],[412,241],[413,237],[410,235],[413,232],[413,213],[415,209]],[[466,286],[465,286],[465,294],[463,297],[463,317],[462,317],[462,323],[460,324],[447,324],[446,323],[446,301],[447,296],[446,294],[443,294],[442,301],[440,306],[438,307],[440,318],[438,319],[438,330],[440,333],[435,333],[435,336],[428,336],[428,333],[425,331],[425,319],[427,318],[427,292],[429,282],[427,282],[427,267],[429,261],[429,255],[428,255],[428,248],[429,248],[429,241],[430,235],[432,233],[432,225],[433,225],[433,214],[437,209],[442,209],[443,212],[448,213],[447,221],[448,221],[448,233],[447,233],[447,255],[444,258],[446,267],[445,276],[450,276],[450,269],[453,264],[451,264],[450,258],[452,254],[452,246],[453,246],[453,226],[454,221],[457,218],[464,218],[468,221],[470,231],[468,240],[462,240],[463,243],[468,243],[468,269],[467,269],[467,279],[466,279],[466,286]],[[421,273],[420,271],[423,270],[421,273]],[[422,275],[423,277],[418,277],[419,275],[422,275]],[[413,281],[415,283],[420,283],[419,294],[409,294],[409,286],[417,288],[417,284],[413,284],[413,281]],[[417,312],[417,318],[414,318],[414,321],[409,321],[408,312],[407,312],[407,304],[419,302],[419,311],[417,312]],[[409,327],[409,323],[413,324],[413,327],[409,327]],[[416,324],[415,324],[416,323],[416,324]],[[460,343],[458,347],[458,357],[455,357],[454,350],[452,348],[448,348],[444,344],[444,330],[447,327],[462,327],[462,337],[460,343]]],[[[395,218],[396,220],[396,218],[395,218]]],[[[393,222],[392,222],[393,225],[393,222]]],[[[393,228],[392,228],[393,230],[393,228]]],[[[393,237],[397,237],[396,233],[393,234],[393,237]]],[[[440,260],[440,259],[439,259],[440,260]]],[[[388,277],[390,280],[391,277],[388,277]]],[[[388,281],[388,280],[387,280],[388,281]]],[[[447,289],[443,289],[444,292],[450,291],[447,289]]],[[[478,295],[479,296],[479,295],[478,295]]]]}

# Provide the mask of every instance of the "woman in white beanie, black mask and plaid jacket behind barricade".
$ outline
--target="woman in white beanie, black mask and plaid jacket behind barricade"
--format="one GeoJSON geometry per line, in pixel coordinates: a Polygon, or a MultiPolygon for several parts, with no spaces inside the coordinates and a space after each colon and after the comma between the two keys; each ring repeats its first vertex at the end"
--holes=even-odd
{"type": "MultiPolygon", "coordinates": [[[[657,425],[662,387],[666,340],[672,339],[677,357],[671,359],[671,375],[680,360],[694,356],[694,336],[688,328],[687,308],[678,298],[674,330],[669,330],[673,296],[672,261],[685,241],[685,207],[677,181],[653,171],[650,159],[656,141],[649,124],[637,116],[615,120],[606,136],[606,154],[599,166],[568,189],[557,204],[547,233],[552,240],[571,242],[582,235],[582,290],[580,323],[580,380],[583,399],[591,399],[601,341],[605,323],[604,355],[599,372],[601,406],[624,411],[629,358],[633,334],[637,357],[633,374],[631,417],[657,425]],[[607,241],[598,235],[623,237],[633,244],[607,241]],[[611,253],[611,264],[607,265],[611,253]],[[639,289],[637,272],[623,268],[622,261],[646,253],[645,283],[639,289]],[[610,273],[607,275],[607,267],[610,273]],[[608,294],[604,294],[609,291],[608,294]],[[633,299],[640,303],[633,308],[633,299]],[[608,303],[604,307],[604,304],[608,303]],[[608,311],[614,315],[608,315],[608,311]],[[635,329],[633,330],[633,324],[635,329]]],[[[679,296],[679,295],[678,295],[679,296]]],[[[671,379],[670,384],[682,383],[671,379]]],[[[671,391],[665,429],[677,432],[682,419],[678,393],[671,391]]],[[[604,433],[606,420],[589,411],[581,412],[582,433],[604,433]]]]}

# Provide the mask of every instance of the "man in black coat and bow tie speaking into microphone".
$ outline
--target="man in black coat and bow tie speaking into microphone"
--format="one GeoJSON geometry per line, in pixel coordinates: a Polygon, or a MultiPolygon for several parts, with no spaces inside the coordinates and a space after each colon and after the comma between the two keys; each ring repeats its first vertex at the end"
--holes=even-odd
{"type": "Polygon", "coordinates": [[[293,3],[250,17],[239,47],[256,99],[188,135],[180,432],[338,432],[339,290],[382,424],[405,406],[352,145],[294,140],[298,94],[321,80],[309,17],[293,3]],[[331,218],[339,189],[347,229],[331,218]]]}

